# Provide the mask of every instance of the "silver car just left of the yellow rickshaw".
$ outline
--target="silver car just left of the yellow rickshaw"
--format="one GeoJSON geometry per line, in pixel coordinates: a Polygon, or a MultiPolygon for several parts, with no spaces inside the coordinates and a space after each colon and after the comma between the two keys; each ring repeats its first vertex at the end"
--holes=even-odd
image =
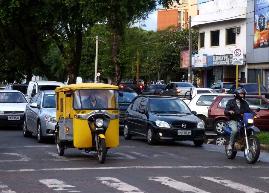
{"type": "Polygon", "coordinates": [[[37,135],[37,142],[53,137],[56,125],[55,91],[39,91],[26,105],[23,136],[37,135]]]}

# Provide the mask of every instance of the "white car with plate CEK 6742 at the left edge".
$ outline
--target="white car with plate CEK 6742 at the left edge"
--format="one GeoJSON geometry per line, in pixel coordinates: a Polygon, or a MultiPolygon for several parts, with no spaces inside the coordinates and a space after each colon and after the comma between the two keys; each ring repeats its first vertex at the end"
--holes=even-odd
{"type": "Polygon", "coordinates": [[[27,103],[20,91],[0,90],[0,125],[23,125],[23,112],[27,103]]]}

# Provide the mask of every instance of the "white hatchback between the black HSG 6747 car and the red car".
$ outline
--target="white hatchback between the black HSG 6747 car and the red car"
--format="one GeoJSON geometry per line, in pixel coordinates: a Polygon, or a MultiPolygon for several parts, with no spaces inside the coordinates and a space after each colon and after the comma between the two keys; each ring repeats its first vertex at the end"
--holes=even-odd
{"type": "Polygon", "coordinates": [[[196,111],[196,116],[204,121],[205,127],[207,126],[208,107],[218,95],[221,94],[196,94],[188,104],[191,111],[196,111]]]}

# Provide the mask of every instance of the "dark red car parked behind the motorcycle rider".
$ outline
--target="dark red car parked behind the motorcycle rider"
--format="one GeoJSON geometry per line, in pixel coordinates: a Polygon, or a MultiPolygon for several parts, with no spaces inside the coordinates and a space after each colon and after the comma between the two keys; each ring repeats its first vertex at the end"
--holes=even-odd
{"type": "MultiPolygon", "coordinates": [[[[222,127],[228,121],[224,110],[227,102],[233,98],[230,94],[219,95],[208,108],[207,123],[213,126],[216,134],[224,135],[222,127]]],[[[260,118],[255,120],[254,125],[258,128],[269,128],[269,101],[258,95],[246,95],[245,101],[254,112],[257,108],[261,109],[257,112],[260,118]]]]}

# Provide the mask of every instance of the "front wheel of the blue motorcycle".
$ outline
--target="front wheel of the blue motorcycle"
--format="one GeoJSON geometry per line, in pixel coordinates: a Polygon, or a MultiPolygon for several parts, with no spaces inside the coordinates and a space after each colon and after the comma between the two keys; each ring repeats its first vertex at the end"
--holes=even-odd
{"type": "Polygon", "coordinates": [[[261,151],[261,145],[258,137],[255,135],[251,135],[248,137],[248,146],[249,146],[249,151],[247,151],[247,144],[245,141],[244,145],[244,157],[247,163],[253,164],[255,163],[259,156],[260,156],[260,151],[261,151]]]}

